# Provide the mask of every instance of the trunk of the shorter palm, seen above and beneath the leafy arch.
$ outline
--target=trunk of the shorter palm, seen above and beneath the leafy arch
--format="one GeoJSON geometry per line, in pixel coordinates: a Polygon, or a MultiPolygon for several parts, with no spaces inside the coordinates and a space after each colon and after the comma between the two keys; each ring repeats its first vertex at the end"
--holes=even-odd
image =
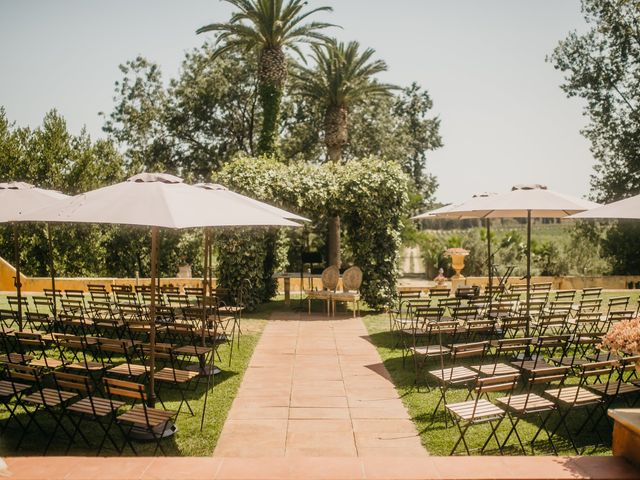
{"type": "MultiPolygon", "coordinates": [[[[333,163],[342,161],[342,149],[348,139],[347,109],[341,106],[329,107],[324,117],[324,141],[327,157],[333,163]]],[[[340,268],[340,217],[329,219],[329,265],[340,268]]]]}

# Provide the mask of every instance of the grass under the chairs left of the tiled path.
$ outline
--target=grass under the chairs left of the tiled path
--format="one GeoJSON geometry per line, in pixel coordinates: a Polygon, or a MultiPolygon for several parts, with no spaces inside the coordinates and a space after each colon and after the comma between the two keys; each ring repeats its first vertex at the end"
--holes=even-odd
{"type": "MultiPolygon", "coordinates": [[[[229,347],[223,345],[220,348],[220,355],[222,361],[218,362],[218,365],[223,369],[223,373],[216,375],[216,384],[209,392],[209,398],[207,400],[207,410],[205,415],[204,428],[200,431],[200,420],[202,416],[202,410],[204,407],[204,394],[206,390],[206,381],[201,382],[201,385],[192,392],[188,392],[189,403],[191,404],[195,415],[191,416],[185,406],[178,416],[176,425],[178,432],[170,439],[163,440],[163,448],[168,455],[180,455],[180,456],[210,456],[213,454],[213,450],[222,431],[222,426],[227,417],[227,413],[231,407],[231,403],[235,398],[240,382],[242,380],[243,373],[245,372],[249,360],[253,353],[253,350],[260,338],[262,330],[266,324],[266,319],[269,318],[271,311],[275,306],[273,304],[267,304],[261,306],[256,312],[247,314],[242,321],[243,335],[241,338],[240,349],[234,348],[233,356],[231,359],[231,365],[229,365],[229,347]]],[[[160,391],[166,408],[169,410],[175,410],[179,405],[179,397],[176,394],[171,395],[171,392],[167,389],[160,391]]],[[[158,405],[160,406],[160,405],[158,405]]],[[[0,411],[0,422],[8,416],[7,412],[3,408],[0,411]]],[[[23,420],[26,416],[22,415],[23,420]]],[[[42,412],[38,413],[38,420],[42,423],[45,431],[53,432],[54,423],[48,416],[42,412]]],[[[89,437],[89,440],[95,444],[102,438],[96,432],[97,426],[92,426],[90,421],[84,423],[85,435],[89,437]]],[[[116,432],[116,429],[113,429],[116,432]]],[[[42,455],[46,441],[48,438],[43,438],[39,434],[36,428],[31,428],[29,435],[25,437],[23,445],[20,447],[20,451],[15,449],[18,441],[20,431],[15,422],[11,423],[11,428],[8,428],[3,432],[0,437],[0,457],[11,455],[42,455]]],[[[80,437],[76,439],[74,446],[69,451],[69,455],[95,455],[97,447],[87,447],[80,437]]],[[[151,455],[155,448],[154,443],[141,443],[136,442],[134,446],[139,455],[151,455]]],[[[49,449],[49,455],[62,455],[66,450],[66,437],[59,435],[59,440],[53,442],[53,446],[49,449]]],[[[116,454],[113,447],[103,449],[102,455],[114,455],[116,454]]],[[[133,453],[127,448],[125,454],[132,455],[133,453]]]]}

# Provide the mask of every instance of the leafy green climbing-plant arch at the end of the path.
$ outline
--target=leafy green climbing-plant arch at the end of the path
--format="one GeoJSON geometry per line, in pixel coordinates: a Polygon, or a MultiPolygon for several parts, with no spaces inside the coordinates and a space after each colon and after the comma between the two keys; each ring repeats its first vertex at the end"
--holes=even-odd
{"type": "MultiPolygon", "coordinates": [[[[270,157],[238,157],[222,169],[216,181],[299,212],[314,224],[340,215],[353,262],[364,272],[365,301],[379,308],[395,292],[400,219],[407,202],[407,178],[397,164],[367,158],[344,165],[284,165],[270,157]]],[[[218,237],[220,283],[238,285],[249,278],[252,303],[270,298],[271,275],[285,266],[286,242],[281,238],[280,248],[275,249],[279,254],[267,259],[265,235],[254,230],[218,237]],[[251,258],[236,261],[241,252],[250,252],[251,258]]]]}

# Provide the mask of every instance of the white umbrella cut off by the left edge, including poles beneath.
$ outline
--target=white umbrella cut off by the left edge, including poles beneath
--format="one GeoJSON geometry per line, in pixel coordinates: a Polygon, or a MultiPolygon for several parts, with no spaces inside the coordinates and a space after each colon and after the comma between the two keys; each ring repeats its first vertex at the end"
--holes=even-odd
{"type": "MultiPolygon", "coordinates": [[[[22,284],[20,282],[20,235],[18,222],[24,220],[24,215],[33,210],[55,204],[65,198],[63,193],[54,190],[45,190],[34,187],[24,182],[0,183],[0,223],[13,224],[14,239],[14,264],[16,269],[16,295],[18,297],[18,330],[22,330],[22,284]]],[[[53,296],[53,315],[56,315],[55,280],[53,270],[53,254],[51,249],[51,232],[47,225],[47,237],[49,241],[50,267],[53,296]]]]}

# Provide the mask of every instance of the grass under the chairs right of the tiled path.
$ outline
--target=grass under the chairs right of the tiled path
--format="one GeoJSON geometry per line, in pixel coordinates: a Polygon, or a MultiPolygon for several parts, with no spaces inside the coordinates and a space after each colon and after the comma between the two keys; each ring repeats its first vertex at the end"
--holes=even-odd
{"type": "MultiPolygon", "coordinates": [[[[619,293],[611,293],[607,292],[606,296],[619,296],[619,293]]],[[[632,308],[636,308],[636,302],[638,300],[638,292],[633,292],[633,304],[632,308]]],[[[606,303],[606,300],[603,301],[606,303]]],[[[435,384],[429,385],[430,389],[427,388],[425,384],[425,380],[423,378],[420,379],[418,386],[415,384],[415,373],[413,367],[413,361],[411,358],[408,358],[406,364],[403,365],[402,354],[399,348],[395,348],[397,343],[397,338],[394,334],[389,332],[389,319],[387,315],[380,314],[369,314],[363,317],[363,321],[369,331],[369,335],[371,341],[376,346],[380,357],[389,371],[391,378],[402,398],[404,405],[406,406],[411,418],[415,422],[420,437],[422,439],[422,444],[425,446],[427,451],[432,455],[449,455],[451,449],[453,448],[456,440],[458,439],[458,431],[455,427],[451,425],[449,422],[448,427],[445,426],[445,419],[443,414],[443,408],[440,407],[438,413],[436,414],[434,420],[432,421],[431,414],[435,405],[440,398],[440,392],[437,388],[433,388],[435,384]]],[[[470,364],[471,362],[468,362],[470,364]]],[[[461,365],[465,365],[465,363],[460,363],[461,365]]],[[[436,359],[427,363],[428,369],[436,369],[439,367],[439,361],[436,359]]],[[[569,381],[568,383],[575,382],[574,379],[569,381]]],[[[463,388],[450,389],[447,392],[447,401],[449,403],[455,403],[465,400],[467,390],[463,388]]],[[[493,395],[493,397],[500,396],[499,394],[493,395]]],[[[616,403],[613,407],[623,407],[624,402],[616,403]]],[[[584,412],[576,411],[576,413],[572,413],[569,415],[569,425],[573,431],[577,430],[578,426],[585,419],[584,412]]],[[[555,417],[557,419],[557,417],[555,417]]],[[[555,422],[554,419],[554,422],[555,422]]],[[[531,439],[538,428],[538,423],[534,422],[534,417],[525,419],[520,422],[518,425],[518,432],[521,433],[521,438],[523,442],[526,442],[526,439],[531,439]]],[[[499,437],[504,439],[506,436],[508,429],[510,427],[507,426],[508,422],[505,421],[500,429],[499,429],[499,437]]],[[[467,433],[467,440],[469,443],[469,447],[471,449],[479,448],[484,443],[485,439],[489,435],[490,429],[487,425],[471,427],[469,432],[467,433]]],[[[600,435],[606,440],[603,444],[600,442],[596,433],[591,432],[590,428],[586,428],[585,432],[583,432],[579,438],[574,438],[578,448],[584,449],[585,454],[589,455],[611,455],[611,427],[610,424],[606,421],[602,421],[600,423],[599,428],[600,435]]],[[[575,455],[574,450],[572,449],[569,441],[566,437],[563,437],[564,432],[560,432],[561,435],[555,437],[559,440],[556,441],[554,438],[554,443],[556,447],[558,447],[558,453],[561,455],[575,455]]],[[[508,448],[505,453],[513,454],[513,455],[521,455],[522,451],[519,446],[516,448],[516,439],[512,436],[509,440],[510,448],[508,448]]],[[[492,445],[495,445],[492,444],[492,445]]],[[[528,446],[525,443],[525,447],[528,446]]],[[[553,451],[546,439],[546,436],[541,434],[536,443],[534,445],[535,453],[542,454],[552,454],[553,451]]],[[[462,446],[460,446],[460,450],[458,453],[462,452],[462,446]]],[[[472,452],[473,453],[473,452],[472,452]]],[[[479,452],[476,452],[479,453],[479,452]]],[[[487,450],[485,454],[498,454],[497,450],[487,450]]],[[[581,452],[582,453],[582,452],[581,452]]],[[[527,454],[531,454],[531,449],[527,449],[527,454]]]]}

